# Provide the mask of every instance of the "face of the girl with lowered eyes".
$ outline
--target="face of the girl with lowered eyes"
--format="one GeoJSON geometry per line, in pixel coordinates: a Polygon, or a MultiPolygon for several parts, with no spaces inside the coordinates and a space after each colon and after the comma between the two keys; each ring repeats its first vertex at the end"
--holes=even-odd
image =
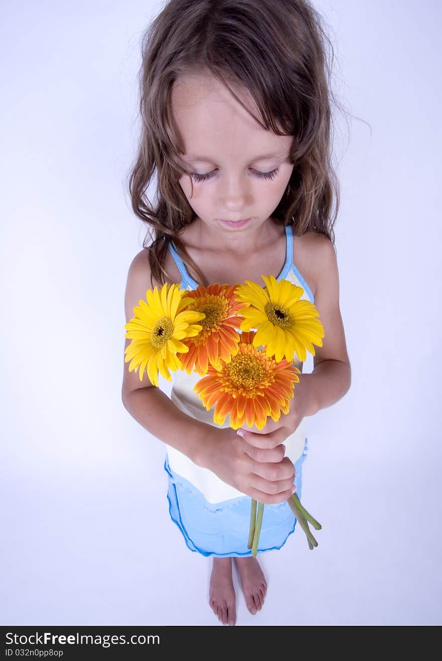
{"type": "MultiPolygon", "coordinates": [[[[230,83],[229,83],[230,84],[230,83]]],[[[250,95],[233,91],[258,116],[250,95]]],[[[172,116],[194,175],[180,185],[203,223],[223,232],[247,233],[266,222],[279,204],[293,171],[292,136],[263,129],[211,74],[188,75],[174,83],[172,116]],[[250,218],[242,227],[222,220],[250,218]]]]}

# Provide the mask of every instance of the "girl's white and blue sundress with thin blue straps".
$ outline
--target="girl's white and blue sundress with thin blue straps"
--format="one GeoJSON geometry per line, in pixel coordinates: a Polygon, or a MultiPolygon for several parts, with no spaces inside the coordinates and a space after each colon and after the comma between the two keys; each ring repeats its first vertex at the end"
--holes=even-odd
{"type": "MultiPolygon", "coordinates": [[[[309,285],[293,264],[291,225],[285,227],[285,235],[285,264],[277,280],[289,280],[302,287],[304,292],[301,299],[314,303],[309,285]]],[[[182,276],[181,288],[195,290],[198,283],[188,274],[172,243],[169,244],[169,249],[182,276]]],[[[297,360],[296,354],[293,360],[302,372],[303,363],[297,360]]],[[[194,385],[201,378],[199,374],[189,375],[181,369],[173,372],[170,399],[192,418],[219,427],[213,421],[215,407],[207,411],[200,397],[194,392],[194,385]]],[[[228,415],[221,425],[223,428],[229,427],[229,419],[228,415]]],[[[284,441],[285,456],[295,465],[294,483],[299,498],[302,489],[302,465],[308,451],[307,442],[303,418],[295,432],[284,441]]],[[[196,465],[189,457],[167,444],[164,468],[168,475],[170,518],[180,529],[191,551],[215,557],[252,555],[251,549],[247,548],[252,504],[250,496],[223,482],[215,473],[196,465]]],[[[287,537],[295,531],[295,524],[295,516],[287,502],[265,504],[258,553],[280,549],[287,537]]]]}

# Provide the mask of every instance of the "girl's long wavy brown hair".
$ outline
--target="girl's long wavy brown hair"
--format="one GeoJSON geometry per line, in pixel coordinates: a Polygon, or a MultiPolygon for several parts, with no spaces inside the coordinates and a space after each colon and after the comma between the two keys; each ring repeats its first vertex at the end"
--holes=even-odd
{"type": "Polygon", "coordinates": [[[141,134],[129,194],[133,212],[149,226],[143,247],[150,245],[151,286],[152,278],[165,283],[170,241],[188,270],[209,284],[179,238],[195,214],[178,182],[183,173],[191,182],[192,176],[180,157],[169,98],[174,81],[186,73],[210,71],[243,107],[228,83],[245,87],[259,109],[260,118],[253,116],[260,126],[293,136],[293,172],[272,216],[293,225],[297,236],[313,230],[334,245],[340,190],[331,158],[334,95],[327,45],[333,53],[309,0],[169,0],[147,26],[139,69],[141,134]],[[152,203],[146,193],[155,171],[152,203]]]}

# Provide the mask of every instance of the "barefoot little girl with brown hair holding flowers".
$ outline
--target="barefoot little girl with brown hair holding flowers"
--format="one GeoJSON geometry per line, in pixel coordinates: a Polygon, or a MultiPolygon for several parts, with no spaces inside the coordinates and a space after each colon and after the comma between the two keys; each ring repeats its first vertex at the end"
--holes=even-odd
{"type": "Polygon", "coordinates": [[[170,0],[143,39],[142,130],[129,190],[154,235],[129,267],[126,323],[146,290],[165,282],[263,286],[261,276],[274,275],[303,288],[325,332],[289,413],[269,417],[262,430],[244,424],[241,435],[229,416],[213,422],[193,389],[200,375],[173,373],[169,399],[146,371],[140,381],[124,365],[122,401],[166,444],[170,516],[189,549],[213,557],[209,603],[223,624],[236,621],[232,558],[250,613],[266,596],[247,547],[251,499],[265,504],[258,553],[280,549],[296,523],[287,498],[296,489],[301,498],[304,418],[350,388],[324,43],[307,0],[170,0]]]}

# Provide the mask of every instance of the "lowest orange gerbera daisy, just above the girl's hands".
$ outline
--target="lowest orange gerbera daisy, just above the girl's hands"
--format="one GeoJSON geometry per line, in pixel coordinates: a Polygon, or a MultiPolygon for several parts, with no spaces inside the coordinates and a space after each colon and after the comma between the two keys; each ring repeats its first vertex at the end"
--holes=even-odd
{"type": "MultiPolygon", "coordinates": [[[[203,323],[205,320],[198,323],[203,323]]],[[[246,421],[262,429],[267,416],[279,420],[281,411],[289,412],[293,385],[299,383],[301,371],[283,358],[276,362],[253,346],[255,331],[240,335],[238,352],[221,369],[209,367],[207,376],[200,379],[194,391],[200,395],[206,410],[216,403],[213,420],[223,424],[230,413],[230,426],[239,429],[246,421]]]]}

